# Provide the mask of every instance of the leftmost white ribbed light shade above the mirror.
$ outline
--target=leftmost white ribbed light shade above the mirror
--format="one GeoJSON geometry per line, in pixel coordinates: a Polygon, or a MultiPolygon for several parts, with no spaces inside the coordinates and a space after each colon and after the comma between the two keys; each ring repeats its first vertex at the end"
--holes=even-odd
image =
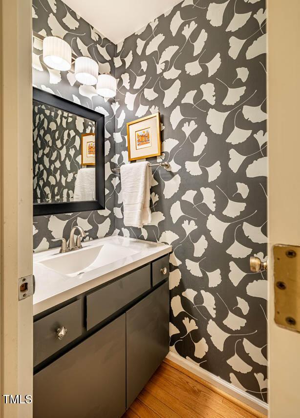
{"type": "Polygon", "coordinates": [[[54,70],[70,70],[72,62],[71,47],[61,38],[46,36],[43,39],[43,61],[54,70]]]}

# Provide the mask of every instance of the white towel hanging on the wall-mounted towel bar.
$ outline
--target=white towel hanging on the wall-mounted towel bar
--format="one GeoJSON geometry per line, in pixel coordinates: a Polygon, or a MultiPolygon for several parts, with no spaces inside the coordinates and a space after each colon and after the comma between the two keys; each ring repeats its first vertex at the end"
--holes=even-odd
{"type": "Polygon", "coordinates": [[[121,165],[124,225],[142,228],[151,222],[149,162],[121,165]]]}

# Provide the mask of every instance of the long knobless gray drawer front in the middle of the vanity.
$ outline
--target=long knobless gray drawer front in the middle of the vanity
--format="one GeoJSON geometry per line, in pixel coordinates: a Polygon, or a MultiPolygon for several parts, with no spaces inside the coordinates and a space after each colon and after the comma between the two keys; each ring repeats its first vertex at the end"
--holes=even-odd
{"type": "Polygon", "coordinates": [[[86,329],[104,321],[151,287],[150,265],[86,296],[86,329]]]}

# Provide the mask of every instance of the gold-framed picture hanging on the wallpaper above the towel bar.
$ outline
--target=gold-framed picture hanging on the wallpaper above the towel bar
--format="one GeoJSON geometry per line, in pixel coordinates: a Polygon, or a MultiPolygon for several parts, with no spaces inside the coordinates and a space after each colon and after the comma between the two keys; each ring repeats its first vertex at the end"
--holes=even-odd
{"type": "Polygon", "coordinates": [[[161,155],[159,112],[127,124],[129,161],[161,155]]]}

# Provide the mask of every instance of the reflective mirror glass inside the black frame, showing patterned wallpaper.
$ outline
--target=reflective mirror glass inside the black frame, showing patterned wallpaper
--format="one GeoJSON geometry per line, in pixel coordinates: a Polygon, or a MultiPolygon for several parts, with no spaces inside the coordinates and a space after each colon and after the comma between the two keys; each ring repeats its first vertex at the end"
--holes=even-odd
{"type": "Polygon", "coordinates": [[[96,199],[93,120],[33,100],[33,203],[96,199]]]}

